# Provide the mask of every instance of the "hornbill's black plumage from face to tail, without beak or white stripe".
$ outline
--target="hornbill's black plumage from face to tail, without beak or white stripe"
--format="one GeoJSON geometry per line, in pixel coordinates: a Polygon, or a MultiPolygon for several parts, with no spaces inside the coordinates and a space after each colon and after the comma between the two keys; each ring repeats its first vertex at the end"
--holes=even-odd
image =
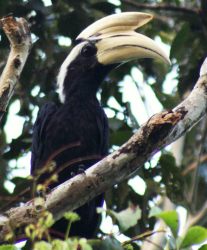
{"type": "MultiPolygon", "coordinates": [[[[67,66],[64,76],[64,103],[57,107],[45,104],[39,111],[34,125],[31,174],[35,175],[48,160],[55,160],[56,170],[63,164],[68,166],[58,173],[58,182],[53,188],[77,174],[79,168],[88,168],[108,152],[108,122],[96,93],[113,65],[103,66],[96,59],[95,45],[87,43],[80,54],[67,66]],[[56,155],[56,152],[59,152],[56,155]],[[54,157],[55,156],[55,157],[54,157]],[[82,160],[81,160],[82,158],[82,160]],[[87,158],[87,159],[85,159],[87,158]],[[77,163],[72,164],[72,161],[77,163]]],[[[39,183],[48,174],[42,174],[39,183]]],[[[76,212],[81,221],[71,228],[70,235],[91,238],[98,225],[96,208],[102,206],[103,195],[79,208],[76,212]]],[[[53,229],[64,233],[64,219],[53,229]]]]}

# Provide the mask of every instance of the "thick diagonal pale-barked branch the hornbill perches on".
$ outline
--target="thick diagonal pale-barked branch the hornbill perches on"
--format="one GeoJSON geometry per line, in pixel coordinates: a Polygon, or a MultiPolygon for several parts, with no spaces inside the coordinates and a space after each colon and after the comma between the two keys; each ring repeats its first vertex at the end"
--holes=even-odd
{"type": "MultiPolygon", "coordinates": [[[[158,150],[170,144],[194,126],[207,112],[207,59],[193,91],[172,111],[154,115],[119,150],[107,156],[84,174],[77,175],[54,189],[45,200],[45,208],[58,220],[109,187],[128,178],[158,150]]],[[[39,216],[33,201],[12,208],[0,217],[0,241],[13,229],[35,223],[39,216]]],[[[20,231],[18,230],[18,233],[20,231]]]]}

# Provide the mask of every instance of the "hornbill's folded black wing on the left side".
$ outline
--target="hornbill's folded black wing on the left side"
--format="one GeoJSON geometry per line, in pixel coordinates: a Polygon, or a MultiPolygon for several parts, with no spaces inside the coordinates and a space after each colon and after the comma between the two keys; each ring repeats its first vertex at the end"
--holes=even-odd
{"type": "Polygon", "coordinates": [[[32,156],[31,156],[31,174],[34,174],[35,169],[40,166],[40,159],[42,158],[44,150],[44,138],[46,127],[57,111],[57,106],[50,102],[43,105],[39,110],[37,119],[33,127],[32,136],[32,156]]]}

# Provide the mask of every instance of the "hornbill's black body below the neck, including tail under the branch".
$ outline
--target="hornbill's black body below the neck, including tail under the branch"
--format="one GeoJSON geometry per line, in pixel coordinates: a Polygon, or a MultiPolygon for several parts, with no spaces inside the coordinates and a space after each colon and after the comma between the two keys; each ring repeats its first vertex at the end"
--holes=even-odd
{"type": "MultiPolygon", "coordinates": [[[[52,160],[56,162],[56,170],[63,169],[58,172],[58,182],[50,184],[53,188],[77,174],[79,168],[87,169],[107,154],[107,118],[95,96],[81,101],[72,97],[59,108],[48,103],[39,112],[34,138],[41,138],[41,141],[33,140],[32,174],[44,167],[48,159],[59,151],[52,160]],[[37,137],[35,133],[40,131],[37,137]]],[[[40,177],[40,182],[45,176],[48,175],[40,177]]],[[[100,195],[79,208],[76,212],[82,220],[72,226],[70,235],[94,236],[99,223],[96,208],[102,204],[103,195],[100,195]]],[[[62,219],[51,232],[54,236],[60,236],[60,233],[64,236],[66,228],[67,221],[62,219]]]]}

